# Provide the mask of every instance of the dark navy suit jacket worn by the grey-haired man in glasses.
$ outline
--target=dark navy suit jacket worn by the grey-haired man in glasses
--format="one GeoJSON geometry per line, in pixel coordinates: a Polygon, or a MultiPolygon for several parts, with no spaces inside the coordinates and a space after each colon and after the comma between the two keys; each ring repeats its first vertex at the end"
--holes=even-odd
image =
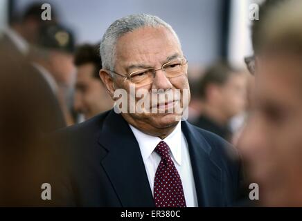
{"type": "MultiPolygon", "coordinates": [[[[181,130],[188,142],[198,205],[231,206],[240,181],[235,152],[222,138],[186,121],[181,130]]],[[[108,111],[58,131],[51,140],[70,160],[64,165],[63,185],[56,182],[54,188],[53,200],[59,205],[154,206],[139,144],[121,115],[108,111]]]]}

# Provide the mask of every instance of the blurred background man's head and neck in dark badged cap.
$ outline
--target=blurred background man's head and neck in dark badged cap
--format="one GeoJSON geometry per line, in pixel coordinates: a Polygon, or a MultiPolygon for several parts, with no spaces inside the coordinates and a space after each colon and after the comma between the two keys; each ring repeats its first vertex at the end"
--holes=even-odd
{"type": "Polygon", "coordinates": [[[37,45],[30,49],[30,59],[46,79],[60,102],[67,125],[73,124],[69,111],[74,80],[73,35],[59,24],[51,23],[39,30],[37,45]]]}

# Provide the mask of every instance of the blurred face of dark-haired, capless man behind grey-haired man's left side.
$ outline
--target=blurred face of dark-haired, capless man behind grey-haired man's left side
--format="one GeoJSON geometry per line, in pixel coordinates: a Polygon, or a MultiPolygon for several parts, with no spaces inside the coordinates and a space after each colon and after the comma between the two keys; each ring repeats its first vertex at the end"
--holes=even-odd
{"type": "Polygon", "coordinates": [[[75,111],[82,113],[85,119],[89,119],[109,110],[113,106],[100,79],[94,77],[95,66],[92,63],[78,66],[75,83],[75,111]]]}

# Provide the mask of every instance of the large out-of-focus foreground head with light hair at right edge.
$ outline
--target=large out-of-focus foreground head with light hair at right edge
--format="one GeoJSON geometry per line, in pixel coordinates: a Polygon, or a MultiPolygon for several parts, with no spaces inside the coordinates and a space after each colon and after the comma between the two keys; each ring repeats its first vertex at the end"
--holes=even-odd
{"type": "Polygon", "coordinates": [[[264,205],[301,206],[302,3],[278,3],[262,18],[253,104],[239,148],[264,205]]]}

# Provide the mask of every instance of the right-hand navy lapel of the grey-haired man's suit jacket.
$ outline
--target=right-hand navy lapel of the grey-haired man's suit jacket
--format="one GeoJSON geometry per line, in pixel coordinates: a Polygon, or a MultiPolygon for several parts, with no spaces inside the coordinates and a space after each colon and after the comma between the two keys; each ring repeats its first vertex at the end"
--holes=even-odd
{"type": "Polygon", "coordinates": [[[211,160],[211,146],[196,129],[181,122],[186,136],[199,206],[223,206],[221,169],[211,160]]]}

